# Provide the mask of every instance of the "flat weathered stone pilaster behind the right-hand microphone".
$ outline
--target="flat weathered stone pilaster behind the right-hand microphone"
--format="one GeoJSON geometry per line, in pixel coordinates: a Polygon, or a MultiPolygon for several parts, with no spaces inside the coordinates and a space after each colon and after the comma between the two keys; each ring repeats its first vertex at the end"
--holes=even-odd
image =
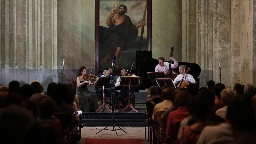
{"type": "Polygon", "coordinates": [[[213,80],[230,87],[230,0],[213,0],[213,80]]]}

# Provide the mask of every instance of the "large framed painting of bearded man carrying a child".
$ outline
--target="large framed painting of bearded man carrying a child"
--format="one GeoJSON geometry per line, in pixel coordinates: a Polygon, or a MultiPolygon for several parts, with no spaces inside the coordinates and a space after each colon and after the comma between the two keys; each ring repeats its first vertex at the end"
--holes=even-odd
{"type": "Polygon", "coordinates": [[[96,74],[109,66],[135,74],[136,51],[151,51],[151,6],[151,0],[95,0],[96,74]]]}

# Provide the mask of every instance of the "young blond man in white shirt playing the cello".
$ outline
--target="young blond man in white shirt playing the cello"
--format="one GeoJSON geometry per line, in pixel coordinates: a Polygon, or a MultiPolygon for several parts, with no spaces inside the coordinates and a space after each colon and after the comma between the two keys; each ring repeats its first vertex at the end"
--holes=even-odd
{"type": "Polygon", "coordinates": [[[180,65],[180,66],[179,66],[179,71],[180,71],[180,75],[178,75],[178,76],[174,79],[174,81],[173,81],[173,83],[174,83],[175,85],[177,85],[177,84],[179,83],[179,81],[182,80],[182,77],[183,77],[183,76],[184,76],[183,80],[186,81],[188,84],[191,84],[191,83],[195,84],[195,83],[196,83],[196,81],[195,81],[195,79],[193,78],[193,76],[191,76],[191,75],[185,73],[185,71],[186,71],[186,66],[180,65]]]}

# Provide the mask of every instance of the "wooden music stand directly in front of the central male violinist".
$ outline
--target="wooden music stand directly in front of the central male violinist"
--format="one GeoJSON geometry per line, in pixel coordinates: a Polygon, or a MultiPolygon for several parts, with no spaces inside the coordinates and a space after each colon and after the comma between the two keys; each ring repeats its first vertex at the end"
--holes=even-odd
{"type": "Polygon", "coordinates": [[[127,108],[132,108],[133,111],[139,112],[135,108],[132,107],[131,105],[131,100],[130,100],[130,87],[139,87],[140,84],[140,77],[138,76],[121,76],[120,77],[120,86],[129,86],[129,96],[128,96],[128,105],[121,111],[124,112],[127,108]]]}

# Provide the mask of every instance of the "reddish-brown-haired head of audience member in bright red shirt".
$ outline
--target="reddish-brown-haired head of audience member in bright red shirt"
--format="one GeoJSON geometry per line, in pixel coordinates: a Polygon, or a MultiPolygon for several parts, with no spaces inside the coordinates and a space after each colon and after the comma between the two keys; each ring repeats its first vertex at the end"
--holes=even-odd
{"type": "Polygon", "coordinates": [[[187,91],[179,91],[176,93],[175,99],[174,99],[174,105],[175,107],[180,107],[188,104],[188,101],[190,100],[191,95],[187,91]]]}

